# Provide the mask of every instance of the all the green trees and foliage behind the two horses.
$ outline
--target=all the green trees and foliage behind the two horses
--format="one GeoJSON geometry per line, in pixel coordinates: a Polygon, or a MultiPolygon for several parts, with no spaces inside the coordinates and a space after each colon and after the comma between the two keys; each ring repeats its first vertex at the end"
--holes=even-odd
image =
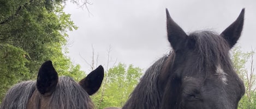
{"type": "MultiPolygon", "coordinates": [[[[52,60],[59,75],[75,80],[85,77],[79,65],[67,54],[67,31],[77,29],[61,0],[0,0],[0,102],[9,87],[34,80],[41,63],[52,60]]],[[[78,4],[79,0],[68,1],[78,4]]],[[[84,3],[82,3],[84,4],[84,3]]],[[[245,83],[246,93],[239,108],[256,108],[254,52],[235,47],[232,60],[245,83]]],[[[93,65],[92,65],[93,66],[93,65]]],[[[124,105],[142,76],[142,69],[118,63],[104,66],[105,78],[99,92],[92,96],[97,108],[124,105]]],[[[93,69],[93,67],[92,67],[93,69]]]]}

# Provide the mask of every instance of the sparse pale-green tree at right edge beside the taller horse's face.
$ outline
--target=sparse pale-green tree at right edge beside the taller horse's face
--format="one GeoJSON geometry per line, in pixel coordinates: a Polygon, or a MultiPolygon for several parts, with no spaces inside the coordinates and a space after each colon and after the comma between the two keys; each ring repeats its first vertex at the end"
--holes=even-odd
{"type": "Polygon", "coordinates": [[[253,50],[251,52],[242,52],[241,47],[235,47],[232,50],[232,60],[235,70],[244,82],[246,90],[245,95],[243,95],[239,102],[239,108],[241,109],[256,108],[256,76],[254,74],[253,55],[253,50]],[[248,63],[249,60],[250,62],[248,63]]]}

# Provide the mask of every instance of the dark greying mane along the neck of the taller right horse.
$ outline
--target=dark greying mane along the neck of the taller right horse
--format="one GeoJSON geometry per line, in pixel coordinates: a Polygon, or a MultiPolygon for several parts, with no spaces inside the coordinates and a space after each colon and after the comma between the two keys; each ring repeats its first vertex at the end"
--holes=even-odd
{"type": "Polygon", "coordinates": [[[159,107],[160,94],[158,92],[157,80],[167,57],[162,57],[146,70],[145,75],[141,78],[133,93],[130,94],[130,98],[122,109],[151,109],[159,107]]]}

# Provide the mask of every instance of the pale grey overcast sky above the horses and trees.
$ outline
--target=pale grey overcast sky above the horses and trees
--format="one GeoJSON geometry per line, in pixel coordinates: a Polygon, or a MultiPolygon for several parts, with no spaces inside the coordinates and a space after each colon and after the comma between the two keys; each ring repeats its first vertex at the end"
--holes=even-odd
{"type": "MultiPolygon", "coordinates": [[[[82,70],[90,72],[83,60],[92,61],[92,45],[98,54],[98,65],[106,68],[108,49],[110,67],[114,61],[147,69],[169,53],[166,39],[168,8],[174,21],[187,33],[213,30],[221,33],[245,8],[245,25],[239,43],[243,51],[256,48],[255,0],[94,0],[88,5],[91,12],[67,2],[65,12],[71,14],[79,28],[69,31],[69,56],[82,70]],[[82,57],[81,57],[81,56],[82,57]]],[[[116,63],[116,64],[117,64],[116,63]]]]}

